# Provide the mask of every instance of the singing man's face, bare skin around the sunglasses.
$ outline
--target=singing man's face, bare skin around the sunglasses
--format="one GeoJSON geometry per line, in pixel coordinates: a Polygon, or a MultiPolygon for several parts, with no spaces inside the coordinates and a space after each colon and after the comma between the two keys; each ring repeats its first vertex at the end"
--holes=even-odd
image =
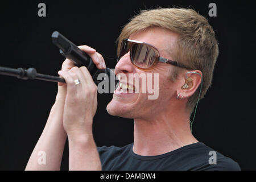
{"type": "MultiPolygon", "coordinates": [[[[177,38],[177,34],[162,28],[149,28],[145,31],[135,32],[129,37],[131,40],[137,40],[155,46],[161,57],[170,60],[173,60],[170,52],[174,49],[174,44],[176,43],[177,38]]],[[[171,67],[174,66],[166,63],[158,63],[153,69],[142,71],[131,64],[130,53],[127,52],[115,66],[115,74],[118,75],[122,73],[126,75],[127,83],[133,87],[135,86],[135,83],[133,80],[128,79],[129,74],[133,74],[134,76],[144,74],[147,77],[149,76],[147,73],[152,73],[152,87],[154,88],[156,84],[159,86],[159,89],[155,90],[158,92],[158,98],[153,100],[148,99],[148,96],[152,96],[152,93],[142,92],[142,86],[145,86],[142,84],[142,80],[139,81],[139,88],[135,88],[139,90],[139,93],[129,93],[129,91],[126,90],[126,83],[120,81],[122,86],[119,84],[118,88],[115,90],[113,99],[107,106],[108,113],[125,118],[146,119],[152,118],[156,114],[170,109],[172,99],[176,98],[177,88],[177,84],[175,84],[176,82],[173,82],[170,79],[171,67]],[[159,79],[156,81],[154,81],[155,74],[158,74],[159,76],[159,79]],[[126,93],[123,93],[124,90],[126,93]]],[[[148,81],[150,80],[147,78],[147,84],[148,81]]]]}

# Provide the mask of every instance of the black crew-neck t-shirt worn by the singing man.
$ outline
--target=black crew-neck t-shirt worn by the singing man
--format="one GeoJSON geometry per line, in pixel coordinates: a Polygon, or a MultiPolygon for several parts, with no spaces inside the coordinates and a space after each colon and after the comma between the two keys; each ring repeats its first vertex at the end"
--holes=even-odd
{"type": "Polygon", "coordinates": [[[214,151],[201,142],[189,144],[156,156],[135,154],[133,143],[124,147],[103,146],[97,147],[97,149],[104,171],[241,170],[234,160],[214,151]],[[213,154],[214,152],[215,154],[213,154]],[[214,155],[216,160],[214,160],[214,155]]]}

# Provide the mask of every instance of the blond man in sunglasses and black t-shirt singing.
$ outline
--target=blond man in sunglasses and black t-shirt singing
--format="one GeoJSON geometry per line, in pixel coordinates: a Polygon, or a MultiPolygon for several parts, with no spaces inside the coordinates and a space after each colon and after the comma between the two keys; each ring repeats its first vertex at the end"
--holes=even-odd
{"type": "MultiPolygon", "coordinates": [[[[68,137],[71,170],[240,170],[236,162],[191,133],[189,118],[210,86],[218,56],[207,19],[189,9],[142,11],[126,24],[118,41],[116,75],[158,76],[153,81],[154,86],[159,84],[156,99],[142,92],[142,81],[138,86],[133,79],[120,80],[107,106],[111,115],[134,119],[134,142],[121,148],[96,147],[92,122],[97,86],[85,67],[65,60],[59,75],[67,84],[59,84],[56,102],[26,169],[60,169],[68,137]],[[46,165],[38,164],[39,151],[46,152],[46,165]],[[209,160],[209,154],[216,158],[209,160]]],[[[105,68],[95,49],[80,48],[97,68],[105,68]]]]}

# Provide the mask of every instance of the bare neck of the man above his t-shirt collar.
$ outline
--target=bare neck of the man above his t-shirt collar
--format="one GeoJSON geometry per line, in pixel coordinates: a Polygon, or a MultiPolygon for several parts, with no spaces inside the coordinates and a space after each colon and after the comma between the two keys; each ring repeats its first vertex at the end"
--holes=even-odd
{"type": "Polygon", "coordinates": [[[189,113],[170,111],[152,119],[134,119],[135,154],[161,155],[198,142],[191,134],[189,113]]]}

